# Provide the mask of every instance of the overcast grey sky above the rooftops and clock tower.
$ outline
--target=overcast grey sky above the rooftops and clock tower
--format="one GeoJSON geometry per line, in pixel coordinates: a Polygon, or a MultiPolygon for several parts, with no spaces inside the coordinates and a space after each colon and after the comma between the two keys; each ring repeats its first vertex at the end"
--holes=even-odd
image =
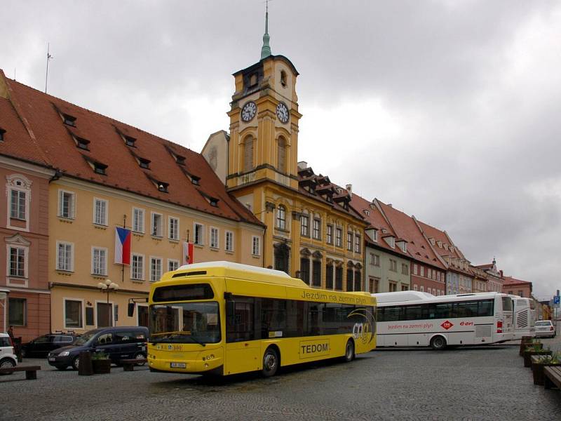
{"type": "MultiPolygon", "coordinates": [[[[262,0],[3,0],[0,68],[200,152],[257,62],[262,0]],[[3,15],[4,15],[3,13],[3,15]]],[[[561,288],[561,2],[269,4],[300,76],[299,156],[445,229],[475,265],[561,288]]]]}

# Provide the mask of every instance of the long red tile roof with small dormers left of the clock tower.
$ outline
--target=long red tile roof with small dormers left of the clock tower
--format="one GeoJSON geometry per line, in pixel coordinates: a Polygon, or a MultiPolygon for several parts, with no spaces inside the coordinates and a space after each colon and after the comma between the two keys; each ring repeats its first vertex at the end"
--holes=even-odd
{"type": "Polygon", "coordinates": [[[7,79],[1,70],[0,78],[10,96],[9,101],[0,100],[0,127],[7,131],[0,154],[41,161],[73,178],[262,225],[227,193],[201,154],[7,79]],[[75,117],[75,127],[63,123],[61,114],[75,117]],[[28,133],[22,130],[18,117],[28,124],[28,133]],[[120,133],[135,138],[135,147],[127,146],[120,133]],[[73,135],[88,140],[89,150],[76,147],[73,135]],[[177,163],[173,154],[184,156],[184,165],[177,163]],[[137,158],[148,159],[149,169],[140,168],[137,158]],[[107,165],[107,175],[95,173],[88,161],[107,165]],[[200,178],[200,185],[194,185],[188,175],[200,178]],[[168,183],[168,193],[158,190],[157,181],[168,183]],[[210,198],[218,199],[216,207],[210,205],[210,198]]]}

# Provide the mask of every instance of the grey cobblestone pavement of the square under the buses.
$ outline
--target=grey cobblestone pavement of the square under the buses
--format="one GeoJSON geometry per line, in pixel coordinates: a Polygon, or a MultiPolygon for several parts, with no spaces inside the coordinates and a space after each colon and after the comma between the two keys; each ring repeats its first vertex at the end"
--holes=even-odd
{"type": "MultiPolygon", "coordinates": [[[[561,349],[560,338],[543,340],[561,349]]],[[[547,345],[546,345],[547,346],[547,345]]],[[[0,420],[559,420],[561,392],[534,386],[518,346],[387,349],[203,380],[147,368],[79,376],[41,363],[38,380],[0,377],[0,420]]]]}

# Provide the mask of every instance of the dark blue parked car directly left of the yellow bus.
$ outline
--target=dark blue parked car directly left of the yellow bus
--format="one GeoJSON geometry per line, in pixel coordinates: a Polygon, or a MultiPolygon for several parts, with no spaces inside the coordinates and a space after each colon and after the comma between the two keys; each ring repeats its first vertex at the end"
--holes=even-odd
{"type": "Polygon", "coordinates": [[[80,353],[104,352],[111,363],[122,359],[145,359],[148,328],[144,326],[122,326],[90,330],[68,347],[54,349],[48,353],[48,363],[59,370],[72,366],[78,369],[80,353]]]}

